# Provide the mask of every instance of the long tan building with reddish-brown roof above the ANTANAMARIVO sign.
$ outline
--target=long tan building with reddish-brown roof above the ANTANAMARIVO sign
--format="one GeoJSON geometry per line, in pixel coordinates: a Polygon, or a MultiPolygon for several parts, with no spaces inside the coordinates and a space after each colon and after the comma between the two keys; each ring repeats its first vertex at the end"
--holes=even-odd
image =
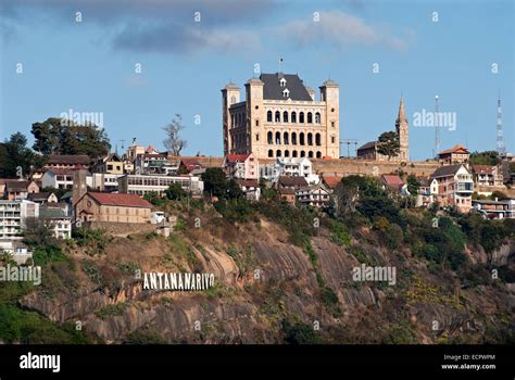
{"type": "Polygon", "coordinates": [[[84,221],[150,223],[152,204],[136,194],[86,192],[75,204],[84,221]]]}

